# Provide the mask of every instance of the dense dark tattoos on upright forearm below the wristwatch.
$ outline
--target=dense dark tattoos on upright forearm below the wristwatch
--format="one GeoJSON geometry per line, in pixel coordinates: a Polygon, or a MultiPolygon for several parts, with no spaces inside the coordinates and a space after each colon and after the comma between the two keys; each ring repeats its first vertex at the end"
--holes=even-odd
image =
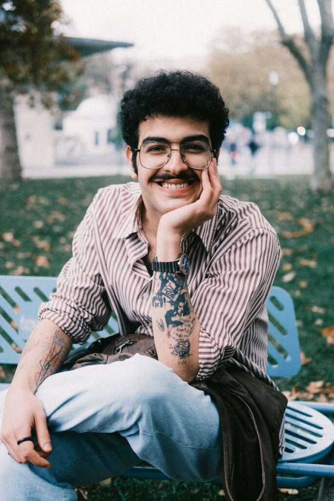
{"type": "Polygon", "coordinates": [[[154,274],[152,308],[159,310],[156,324],[170,339],[169,349],[179,364],[191,355],[190,336],[196,318],[190,303],[186,277],[175,273],[154,274]]]}

